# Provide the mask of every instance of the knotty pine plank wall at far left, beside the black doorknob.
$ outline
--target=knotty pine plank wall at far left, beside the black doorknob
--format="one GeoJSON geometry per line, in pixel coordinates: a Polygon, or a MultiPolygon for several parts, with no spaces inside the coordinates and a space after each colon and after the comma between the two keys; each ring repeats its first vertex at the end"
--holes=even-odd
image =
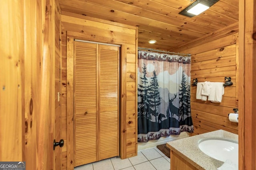
{"type": "Polygon", "coordinates": [[[55,3],[0,6],[0,161],[26,161],[28,170],[53,169],[55,3]]]}

